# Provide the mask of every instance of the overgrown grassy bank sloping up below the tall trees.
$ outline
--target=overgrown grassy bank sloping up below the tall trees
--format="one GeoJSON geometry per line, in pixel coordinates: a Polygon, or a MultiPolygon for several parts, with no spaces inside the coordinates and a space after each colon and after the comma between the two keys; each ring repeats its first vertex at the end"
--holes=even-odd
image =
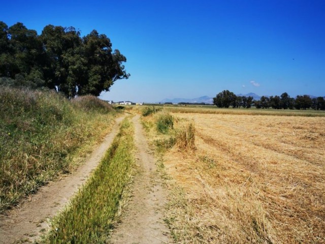
{"type": "Polygon", "coordinates": [[[0,87],[0,212],[67,173],[110,129],[114,110],[85,96],[0,87]]]}

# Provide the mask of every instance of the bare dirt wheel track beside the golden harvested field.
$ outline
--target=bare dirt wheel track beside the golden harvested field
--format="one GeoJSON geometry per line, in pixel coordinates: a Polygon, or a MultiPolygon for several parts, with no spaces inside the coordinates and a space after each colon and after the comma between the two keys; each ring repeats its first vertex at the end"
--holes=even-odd
{"type": "Polygon", "coordinates": [[[169,229],[163,219],[166,194],[156,171],[152,153],[143,135],[139,115],[133,118],[137,163],[140,173],[135,176],[132,199],[114,230],[111,243],[171,243],[169,229]]]}

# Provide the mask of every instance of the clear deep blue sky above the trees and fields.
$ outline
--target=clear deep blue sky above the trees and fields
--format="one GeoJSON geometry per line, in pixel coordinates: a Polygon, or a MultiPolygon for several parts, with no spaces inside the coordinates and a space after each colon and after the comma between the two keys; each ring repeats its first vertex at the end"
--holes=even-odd
{"type": "Polygon", "coordinates": [[[2,1],[0,20],[96,29],[131,77],[106,100],[235,94],[325,96],[325,1],[2,1]]]}

